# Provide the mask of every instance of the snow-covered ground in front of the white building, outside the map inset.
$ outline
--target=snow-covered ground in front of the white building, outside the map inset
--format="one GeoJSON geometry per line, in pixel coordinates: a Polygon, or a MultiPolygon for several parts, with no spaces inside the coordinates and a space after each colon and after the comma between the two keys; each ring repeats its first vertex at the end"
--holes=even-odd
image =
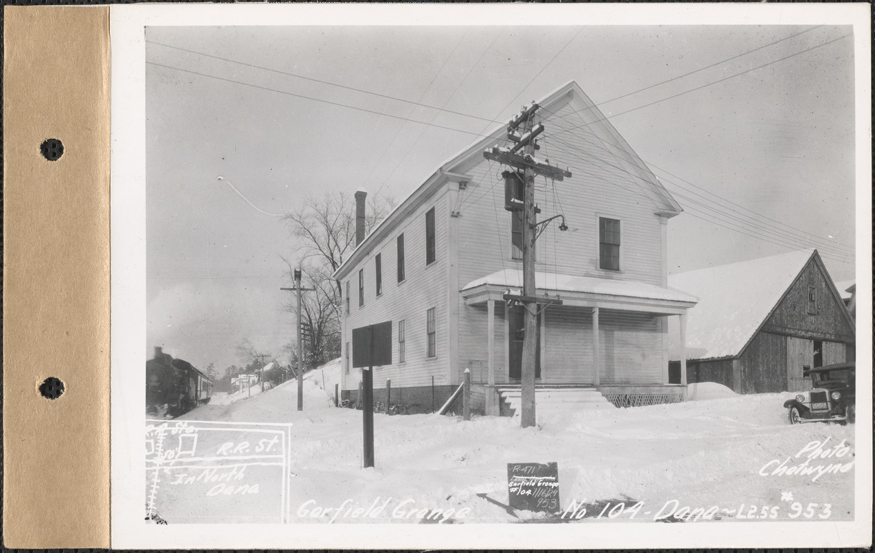
{"type": "MultiPolygon", "coordinates": [[[[616,519],[623,521],[678,521],[671,515],[675,506],[699,508],[700,515],[716,507],[714,518],[724,521],[739,520],[739,510],[748,516],[751,509],[764,520],[853,516],[854,425],[791,426],[783,402],[793,394],[734,395],[718,384],[699,384],[690,387],[688,402],[581,411],[528,429],[521,429],[517,418],[479,416],[465,422],[430,414],[374,414],[375,467],[362,469],[362,413],[333,407],[339,371],[337,360],[306,375],[303,411],[297,411],[297,384],[288,381],[251,399],[211,402],[177,420],[292,423],[287,479],[292,522],[328,522],[335,512],[335,522],[362,521],[353,508],[375,501],[386,507],[367,521],[419,521],[422,513],[411,519],[399,514],[450,508],[456,523],[543,517],[517,512],[517,519],[479,494],[506,504],[507,463],[551,461],[559,466],[562,507],[589,506],[581,521],[609,520],[606,514],[598,518],[598,512],[618,502],[626,505],[616,519]],[[809,459],[806,466],[843,465],[844,472],[785,473],[805,463],[824,441],[823,455],[834,455],[809,459]],[[830,449],[843,442],[847,448],[830,449]],[[633,514],[628,507],[639,501],[633,514]],[[815,506],[809,509],[809,504],[815,506]],[[335,511],[313,517],[316,507],[335,511]]],[[[260,483],[266,504],[276,500],[269,500],[273,496],[267,491],[281,485],[281,479],[260,483]]],[[[193,521],[192,514],[199,521],[237,520],[233,502],[208,501],[203,491],[191,491],[159,492],[158,513],[170,523],[193,521]]]]}

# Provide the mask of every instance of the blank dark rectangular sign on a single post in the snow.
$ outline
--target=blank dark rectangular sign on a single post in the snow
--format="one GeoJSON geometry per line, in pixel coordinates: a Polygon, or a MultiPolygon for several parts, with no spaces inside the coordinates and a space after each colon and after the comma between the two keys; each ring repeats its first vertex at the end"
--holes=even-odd
{"type": "Polygon", "coordinates": [[[353,328],[353,367],[361,368],[363,465],[374,466],[374,366],[392,364],[392,321],[353,328]]]}

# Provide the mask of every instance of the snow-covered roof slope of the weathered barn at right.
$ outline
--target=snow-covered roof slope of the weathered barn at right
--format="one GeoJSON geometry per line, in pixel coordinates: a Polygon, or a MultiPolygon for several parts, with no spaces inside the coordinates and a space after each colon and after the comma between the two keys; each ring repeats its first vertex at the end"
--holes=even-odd
{"type": "MultiPolygon", "coordinates": [[[[699,297],[687,316],[687,359],[738,355],[814,254],[794,251],[670,275],[672,287],[699,297]]],[[[669,317],[669,356],[681,358],[676,317],[669,317]]]]}

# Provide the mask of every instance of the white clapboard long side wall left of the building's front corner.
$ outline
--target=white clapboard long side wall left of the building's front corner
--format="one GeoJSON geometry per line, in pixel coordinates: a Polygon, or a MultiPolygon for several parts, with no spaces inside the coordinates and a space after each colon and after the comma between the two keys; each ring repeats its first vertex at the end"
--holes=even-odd
{"type": "MultiPolygon", "coordinates": [[[[343,281],[349,281],[350,312],[344,315],[342,358],[346,363],[346,343],[352,342],[353,328],[387,320],[392,321],[393,365],[374,369],[374,386],[391,379],[393,386],[430,385],[431,376],[436,384],[447,384],[447,189],[442,187],[430,200],[416,209],[404,223],[395,228],[383,241],[374,245],[343,281]],[[425,213],[435,207],[435,245],[437,259],[425,264],[425,213]],[[397,237],[404,235],[405,279],[397,282],[397,237]],[[376,296],[374,257],[381,254],[382,294],[376,296]],[[359,307],[359,269],[365,269],[365,305],[359,307]],[[426,357],[426,311],[436,308],[437,357],[426,357]],[[398,321],[406,324],[406,357],[398,363],[398,321]]],[[[345,309],[345,306],[344,306],[345,309]]],[[[346,312],[346,311],[345,311],[346,312]]],[[[352,356],[350,356],[352,359],[352,356]]],[[[352,363],[350,363],[351,365],[352,363]]],[[[343,389],[358,389],[360,369],[346,366],[342,370],[343,389]]]]}

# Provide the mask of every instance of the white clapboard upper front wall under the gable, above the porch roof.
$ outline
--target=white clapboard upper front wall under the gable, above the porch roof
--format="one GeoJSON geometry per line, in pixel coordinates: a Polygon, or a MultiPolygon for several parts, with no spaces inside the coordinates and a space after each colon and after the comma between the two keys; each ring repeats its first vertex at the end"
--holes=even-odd
{"type": "MultiPolygon", "coordinates": [[[[566,107],[556,115],[570,113],[566,107]]],[[[550,223],[536,245],[536,270],[662,285],[660,217],[655,214],[659,206],[644,192],[641,178],[606,165],[624,167],[616,159],[616,149],[606,147],[591,130],[574,131],[583,138],[559,135],[562,142],[557,142],[549,140],[551,130],[570,124],[547,116],[544,126],[548,138],[538,155],[568,165],[574,176],[555,185],[535,179],[539,220],[562,213],[570,228],[563,233],[550,223]],[[621,221],[620,271],[598,269],[599,216],[621,221]]],[[[501,269],[521,269],[521,261],[511,255],[510,214],[504,210],[500,171],[499,164],[484,159],[466,172],[472,180],[460,200],[460,287],[501,269]]]]}

